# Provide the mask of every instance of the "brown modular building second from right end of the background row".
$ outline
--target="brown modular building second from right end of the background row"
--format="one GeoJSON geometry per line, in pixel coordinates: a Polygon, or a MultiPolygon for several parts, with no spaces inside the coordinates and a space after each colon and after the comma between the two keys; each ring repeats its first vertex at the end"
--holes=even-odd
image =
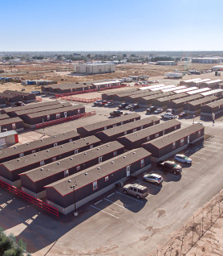
{"type": "Polygon", "coordinates": [[[201,105],[205,105],[216,100],[217,100],[216,96],[209,96],[209,97],[203,97],[197,101],[189,101],[186,104],[184,104],[184,112],[186,114],[200,114],[201,105]]]}

